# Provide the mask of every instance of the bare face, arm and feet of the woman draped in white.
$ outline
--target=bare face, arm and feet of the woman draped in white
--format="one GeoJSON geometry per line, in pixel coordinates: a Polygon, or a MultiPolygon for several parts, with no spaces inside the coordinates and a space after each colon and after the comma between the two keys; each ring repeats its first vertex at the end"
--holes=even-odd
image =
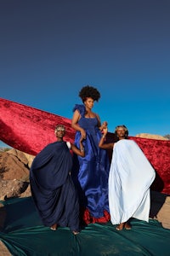
{"type": "MultiPolygon", "coordinates": [[[[101,137],[100,141],[99,141],[99,148],[103,148],[103,149],[113,149],[114,144],[115,143],[105,143],[105,137],[107,135],[107,128],[103,129],[103,136],[101,137]]],[[[126,130],[123,127],[119,127],[116,130],[117,133],[117,137],[119,140],[125,139],[125,134],[126,134],[126,130]]],[[[122,222],[121,224],[119,224],[116,227],[116,230],[122,230],[122,229],[126,229],[126,230],[131,230],[131,225],[127,222],[122,222]]]]}

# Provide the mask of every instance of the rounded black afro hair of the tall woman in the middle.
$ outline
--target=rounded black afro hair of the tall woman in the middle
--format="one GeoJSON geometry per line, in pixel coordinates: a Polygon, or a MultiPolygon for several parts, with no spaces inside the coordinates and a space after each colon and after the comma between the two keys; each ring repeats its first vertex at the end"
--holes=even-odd
{"type": "Polygon", "coordinates": [[[98,102],[100,98],[99,90],[93,86],[86,85],[82,87],[79,92],[79,96],[82,98],[82,102],[85,102],[87,98],[92,98],[94,101],[98,102]]]}

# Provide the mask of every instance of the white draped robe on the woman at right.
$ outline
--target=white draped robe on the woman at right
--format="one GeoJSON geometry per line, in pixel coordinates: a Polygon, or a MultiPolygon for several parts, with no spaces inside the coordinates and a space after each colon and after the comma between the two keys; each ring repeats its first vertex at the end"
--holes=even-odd
{"type": "Polygon", "coordinates": [[[129,218],[149,221],[150,184],[155,177],[155,170],[137,143],[129,139],[115,143],[109,175],[112,224],[129,218]]]}

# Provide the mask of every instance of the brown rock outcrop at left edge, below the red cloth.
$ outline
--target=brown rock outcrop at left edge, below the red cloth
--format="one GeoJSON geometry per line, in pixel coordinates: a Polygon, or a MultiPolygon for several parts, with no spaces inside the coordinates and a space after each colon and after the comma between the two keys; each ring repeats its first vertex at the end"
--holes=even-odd
{"type": "Polygon", "coordinates": [[[11,149],[0,152],[0,199],[20,197],[26,191],[31,195],[29,186],[30,166],[34,156],[20,150],[11,149]]]}

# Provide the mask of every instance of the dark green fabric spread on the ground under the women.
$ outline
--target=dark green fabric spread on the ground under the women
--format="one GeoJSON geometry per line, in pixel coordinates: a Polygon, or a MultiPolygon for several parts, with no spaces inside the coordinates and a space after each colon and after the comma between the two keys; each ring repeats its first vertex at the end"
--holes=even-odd
{"type": "Polygon", "coordinates": [[[0,240],[17,256],[170,255],[170,230],[156,220],[132,219],[132,230],[117,231],[111,222],[88,224],[74,236],[68,228],[44,227],[31,197],[2,202],[7,218],[0,240]]]}

